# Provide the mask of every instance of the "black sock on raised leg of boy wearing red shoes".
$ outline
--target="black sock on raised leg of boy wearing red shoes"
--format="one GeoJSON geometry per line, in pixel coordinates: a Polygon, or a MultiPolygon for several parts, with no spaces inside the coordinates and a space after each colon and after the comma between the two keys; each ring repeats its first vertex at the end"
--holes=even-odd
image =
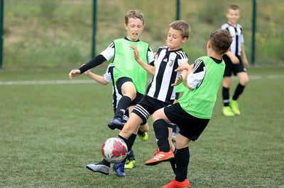
{"type": "Polygon", "coordinates": [[[153,123],[155,131],[155,139],[157,140],[160,151],[170,151],[170,143],[168,141],[168,125],[163,119],[158,119],[153,123]]]}

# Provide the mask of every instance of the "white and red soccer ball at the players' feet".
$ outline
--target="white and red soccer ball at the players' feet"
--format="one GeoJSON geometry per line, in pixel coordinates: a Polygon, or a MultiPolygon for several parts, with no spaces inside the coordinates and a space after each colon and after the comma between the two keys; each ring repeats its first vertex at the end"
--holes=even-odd
{"type": "Polygon", "coordinates": [[[128,149],[123,139],[110,138],[102,145],[102,155],[109,163],[121,163],[126,158],[128,149]]]}

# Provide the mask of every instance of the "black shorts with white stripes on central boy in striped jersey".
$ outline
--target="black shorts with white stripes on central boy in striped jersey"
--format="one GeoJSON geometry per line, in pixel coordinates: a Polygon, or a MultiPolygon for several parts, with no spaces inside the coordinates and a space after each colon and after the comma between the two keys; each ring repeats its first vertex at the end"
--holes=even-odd
{"type": "Polygon", "coordinates": [[[137,114],[143,120],[142,124],[146,124],[147,119],[153,114],[156,110],[166,107],[173,104],[173,100],[170,102],[163,102],[155,98],[151,98],[148,95],[144,95],[142,100],[138,102],[136,107],[132,110],[133,113],[137,114]]]}

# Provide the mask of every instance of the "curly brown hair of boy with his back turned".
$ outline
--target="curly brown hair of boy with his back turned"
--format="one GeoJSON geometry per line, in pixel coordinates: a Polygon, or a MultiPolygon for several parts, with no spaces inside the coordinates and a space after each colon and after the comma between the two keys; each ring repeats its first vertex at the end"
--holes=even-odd
{"type": "Polygon", "coordinates": [[[227,49],[229,49],[231,42],[233,41],[233,37],[229,30],[214,30],[209,38],[211,42],[212,49],[217,54],[224,54],[227,49]]]}

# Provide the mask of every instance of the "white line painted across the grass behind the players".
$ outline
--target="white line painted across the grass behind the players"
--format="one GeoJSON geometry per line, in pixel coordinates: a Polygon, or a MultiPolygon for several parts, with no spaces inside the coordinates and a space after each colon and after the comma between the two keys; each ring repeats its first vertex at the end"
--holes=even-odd
{"type": "MultiPolygon", "coordinates": [[[[284,75],[266,75],[266,76],[249,76],[250,80],[261,80],[261,79],[283,79],[284,75]]],[[[232,77],[233,80],[238,79],[236,76],[232,77]]],[[[151,80],[151,79],[150,79],[151,80]]],[[[149,81],[150,81],[149,80],[149,81]]],[[[97,83],[93,80],[79,80],[79,81],[0,81],[0,86],[11,86],[11,85],[54,85],[54,84],[78,84],[78,83],[97,83]]]]}

